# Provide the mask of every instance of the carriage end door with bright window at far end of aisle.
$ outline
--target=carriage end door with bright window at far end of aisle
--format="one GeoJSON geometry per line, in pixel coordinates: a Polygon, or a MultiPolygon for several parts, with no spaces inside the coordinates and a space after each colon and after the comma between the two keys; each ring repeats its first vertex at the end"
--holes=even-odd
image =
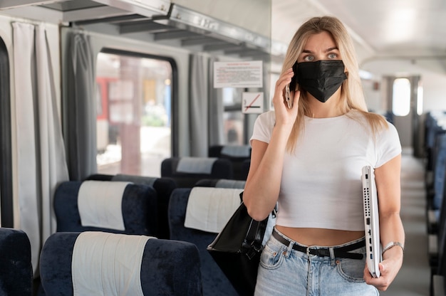
{"type": "Polygon", "coordinates": [[[419,155],[421,145],[420,115],[422,114],[422,87],[420,76],[384,78],[390,121],[400,135],[401,145],[419,155]]]}

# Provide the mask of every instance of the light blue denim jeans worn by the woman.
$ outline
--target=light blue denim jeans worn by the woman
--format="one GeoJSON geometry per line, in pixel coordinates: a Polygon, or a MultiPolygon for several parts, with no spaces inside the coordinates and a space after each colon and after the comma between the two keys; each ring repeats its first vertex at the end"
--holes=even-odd
{"type": "MultiPolygon", "coordinates": [[[[276,231],[279,233],[279,231],[276,231]]],[[[279,233],[281,234],[281,233],[279,233]]],[[[284,236],[281,234],[281,236],[284,236]]],[[[287,238],[291,240],[291,238],[287,238]]],[[[350,245],[363,240],[353,240],[350,245]]],[[[363,253],[363,259],[306,255],[289,245],[269,238],[261,253],[256,296],[376,296],[378,290],[363,280],[365,247],[351,253],[363,253]]],[[[298,243],[296,243],[298,244],[298,243]]]]}

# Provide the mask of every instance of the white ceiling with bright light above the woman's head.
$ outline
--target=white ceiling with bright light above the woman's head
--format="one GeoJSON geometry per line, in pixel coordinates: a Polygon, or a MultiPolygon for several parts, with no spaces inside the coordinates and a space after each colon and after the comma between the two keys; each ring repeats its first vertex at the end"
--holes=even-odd
{"type": "Polygon", "coordinates": [[[446,53],[444,0],[272,0],[272,3],[273,38],[280,41],[289,42],[308,16],[329,14],[350,29],[361,60],[397,56],[441,58],[446,53]]]}

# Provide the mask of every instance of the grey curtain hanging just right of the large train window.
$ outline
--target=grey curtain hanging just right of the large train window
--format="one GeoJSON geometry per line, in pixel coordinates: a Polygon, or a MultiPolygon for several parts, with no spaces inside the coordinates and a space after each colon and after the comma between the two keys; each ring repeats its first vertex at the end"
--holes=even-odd
{"type": "Polygon", "coordinates": [[[208,122],[209,76],[204,56],[190,55],[189,77],[190,156],[207,157],[209,129],[203,122],[208,122]]]}

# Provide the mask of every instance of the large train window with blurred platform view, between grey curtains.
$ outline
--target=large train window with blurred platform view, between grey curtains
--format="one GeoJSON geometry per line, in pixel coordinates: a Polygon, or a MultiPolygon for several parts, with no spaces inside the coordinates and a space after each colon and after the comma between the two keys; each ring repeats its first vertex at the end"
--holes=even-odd
{"type": "Polygon", "coordinates": [[[171,156],[172,65],[102,52],[96,69],[98,173],[160,176],[171,156]]]}

